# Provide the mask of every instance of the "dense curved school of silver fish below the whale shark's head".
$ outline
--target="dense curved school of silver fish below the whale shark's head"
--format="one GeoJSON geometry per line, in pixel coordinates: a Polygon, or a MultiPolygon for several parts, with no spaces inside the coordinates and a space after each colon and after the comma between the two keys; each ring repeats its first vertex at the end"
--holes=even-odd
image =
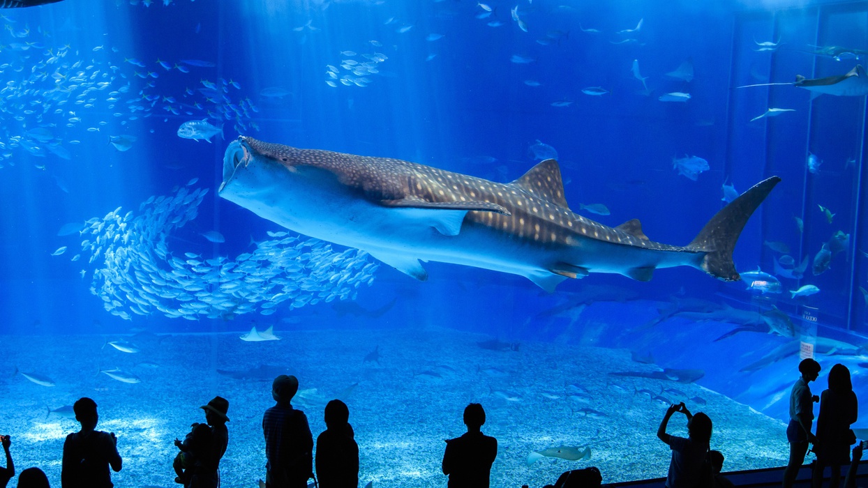
{"type": "Polygon", "coordinates": [[[169,250],[168,237],[196,218],[207,192],[182,186],[148,198],[138,215],[118,207],[85,223],[82,253],[97,266],[90,291],[109,313],[125,320],[157,312],[188,320],[268,316],[282,303],[291,310],[353,300],[358,287],[373,283],[379,264],[365,251],[333,251],[324,241],[286,231],[269,231],[273,238],[233,259],[169,250]]]}

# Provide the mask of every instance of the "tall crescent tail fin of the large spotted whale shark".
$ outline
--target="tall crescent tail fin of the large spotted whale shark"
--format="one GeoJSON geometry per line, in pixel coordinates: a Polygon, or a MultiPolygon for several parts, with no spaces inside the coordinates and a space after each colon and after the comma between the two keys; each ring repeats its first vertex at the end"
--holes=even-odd
{"type": "Polygon", "coordinates": [[[779,181],[780,178],[777,176],[760,181],[723,207],[708,221],[693,242],[687,244],[687,249],[690,251],[706,252],[706,255],[696,264],[697,268],[724,281],[741,279],[733,264],[735,243],[739,240],[747,219],[753,215],[753,211],[766,199],[779,181]]]}

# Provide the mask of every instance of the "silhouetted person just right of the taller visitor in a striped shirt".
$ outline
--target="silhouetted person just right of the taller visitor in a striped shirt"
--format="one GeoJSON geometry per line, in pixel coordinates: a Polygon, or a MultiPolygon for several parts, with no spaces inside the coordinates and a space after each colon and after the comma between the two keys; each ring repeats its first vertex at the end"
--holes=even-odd
{"type": "Polygon", "coordinates": [[[358,488],[358,444],[353,438],[350,409],[341,400],[325,406],[325,431],[317,438],[317,481],[320,488],[358,488]]]}

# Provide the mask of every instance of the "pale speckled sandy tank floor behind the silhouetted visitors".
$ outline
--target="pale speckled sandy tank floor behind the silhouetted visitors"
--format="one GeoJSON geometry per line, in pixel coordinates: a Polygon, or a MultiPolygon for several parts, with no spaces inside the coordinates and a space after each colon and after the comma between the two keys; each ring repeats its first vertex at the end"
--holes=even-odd
{"type": "MultiPolygon", "coordinates": [[[[665,476],[669,451],[656,438],[666,408],[638,390],[687,401],[713,420],[712,446],[726,471],[786,463],[786,426],[696,384],[615,377],[613,372],[659,370],[630,360],[624,349],[524,342],[517,352],[491,350],[484,335],[448,329],[276,331],[279,341],[243,342],[240,333],[135,336],[3,336],[0,433],[12,436],[20,472],[40,466],[60,485],[62,445],[75,420],[48,413],[89,396],[99,405],[98,429],[117,435],[119,487],[174,485],[175,438],[215,394],[230,402],[229,446],[220,464],[225,488],[257,486],[265,478],[262,413],[273,405],[271,380],[296,374],[297,404],[314,438],[325,429],[323,407],[341,397],[360,452],[359,486],[445,486],[444,439],[464,433],[462,413],[482,403],[483,433],[498,441],[491,486],[542,486],[566,470],[595,465],[603,481],[665,476]],[[140,351],[123,353],[106,340],[126,339],[140,351]],[[378,348],[378,361],[364,361],[378,348]],[[43,387],[24,373],[56,382],[43,387]],[[98,371],[120,368],[141,382],[116,381],[98,371]],[[221,370],[218,373],[218,369],[221,370]],[[681,394],[684,396],[681,397],[681,394]],[[688,398],[706,401],[700,405],[688,398]],[[583,410],[586,409],[586,410],[583,410]],[[597,413],[590,413],[591,409],[597,413]],[[590,459],[528,455],[555,446],[590,446],[590,459]]],[[[687,435],[676,413],[669,432],[687,435]]]]}

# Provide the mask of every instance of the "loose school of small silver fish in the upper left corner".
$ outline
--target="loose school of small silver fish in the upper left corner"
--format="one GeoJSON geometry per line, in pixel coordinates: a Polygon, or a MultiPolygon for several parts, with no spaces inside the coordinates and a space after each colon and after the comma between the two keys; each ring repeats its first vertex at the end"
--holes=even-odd
{"type": "MultiPolygon", "coordinates": [[[[161,114],[207,118],[215,126],[227,121],[239,133],[259,130],[252,120],[259,109],[249,98],[230,96],[240,94],[238,82],[209,81],[191,73],[214,68],[213,62],[141,62],[105,45],[81,49],[60,44],[41,27],[30,29],[11,16],[0,20],[5,24],[5,36],[0,34],[0,168],[14,165],[16,151],[72,159],[72,146],[97,135],[127,151],[137,138],[109,133],[116,125],[109,125],[105,114],[121,120],[119,132],[137,134],[147,129],[132,127],[135,120],[161,114]],[[186,78],[190,84],[184,92],[171,93],[185,86],[186,78]]],[[[36,159],[36,167],[45,169],[47,160],[36,159]]]]}

